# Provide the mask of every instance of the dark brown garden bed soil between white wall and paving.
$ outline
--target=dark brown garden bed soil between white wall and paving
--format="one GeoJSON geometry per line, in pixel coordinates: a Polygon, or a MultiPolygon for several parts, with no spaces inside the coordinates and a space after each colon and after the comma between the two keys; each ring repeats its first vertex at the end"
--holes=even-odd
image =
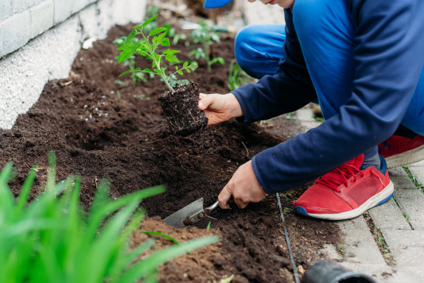
{"type": "MultiPolygon", "coordinates": [[[[231,120],[188,136],[170,134],[156,99],[166,89],[162,82],[151,79],[132,88],[128,76],[123,80],[129,86],[114,83],[126,69],[116,64],[118,53],[112,41],[128,35],[131,27],[112,28],[107,39],[80,51],[70,76],[48,82],[39,101],[19,116],[13,129],[0,131],[0,166],[12,161],[17,171],[10,182],[12,191],[19,192],[34,163],[39,169],[31,198],[42,190],[49,150],[54,150],[58,159],[58,181],[81,174],[81,201],[86,206],[101,177],[112,181],[112,197],[166,185],[166,193],[143,201],[149,218],[141,229],[166,232],[182,241],[203,235],[220,235],[222,240],[162,266],[161,282],[219,282],[230,275],[235,275],[231,282],[294,282],[274,195],[245,210],[218,208],[212,213],[219,220],[216,229],[177,230],[160,219],[200,197],[210,206],[239,165],[302,131],[297,120],[277,118],[265,125],[240,125],[231,120]]],[[[177,48],[182,50],[180,59],[189,59],[184,54],[194,46],[177,48]]],[[[208,73],[200,61],[199,69],[186,79],[199,83],[203,93],[228,93],[233,38],[223,35],[213,51],[215,57],[224,57],[226,64],[215,64],[208,73]]],[[[285,223],[301,273],[322,257],[319,249],[324,244],[337,241],[333,223],[292,213],[292,201],[305,188],[282,195],[285,223]]],[[[134,244],[145,237],[135,233],[134,244]]],[[[158,246],[170,244],[167,241],[159,239],[158,246]]]]}

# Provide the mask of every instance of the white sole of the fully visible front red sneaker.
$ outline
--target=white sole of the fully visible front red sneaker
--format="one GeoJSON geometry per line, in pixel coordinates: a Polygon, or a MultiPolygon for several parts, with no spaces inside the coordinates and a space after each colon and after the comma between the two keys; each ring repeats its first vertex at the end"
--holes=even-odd
{"type": "Polygon", "coordinates": [[[378,206],[381,203],[385,203],[391,198],[391,196],[393,196],[393,194],[394,194],[394,185],[390,181],[389,185],[387,185],[387,187],[384,190],[374,195],[373,197],[369,198],[367,201],[362,203],[362,206],[359,206],[355,208],[354,210],[340,212],[337,214],[308,213],[308,215],[313,218],[328,219],[328,220],[351,219],[351,218],[360,216],[362,213],[366,212],[366,210],[369,210],[370,208],[373,208],[374,206],[378,206]]]}

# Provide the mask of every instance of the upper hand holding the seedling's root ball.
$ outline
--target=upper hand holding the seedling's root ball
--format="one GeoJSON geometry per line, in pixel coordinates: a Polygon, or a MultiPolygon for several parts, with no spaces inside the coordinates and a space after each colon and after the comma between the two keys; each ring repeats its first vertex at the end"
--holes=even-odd
{"type": "Polygon", "coordinates": [[[219,124],[231,118],[243,116],[240,103],[233,93],[200,93],[199,109],[204,110],[209,119],[208,125],[219,124]]]}

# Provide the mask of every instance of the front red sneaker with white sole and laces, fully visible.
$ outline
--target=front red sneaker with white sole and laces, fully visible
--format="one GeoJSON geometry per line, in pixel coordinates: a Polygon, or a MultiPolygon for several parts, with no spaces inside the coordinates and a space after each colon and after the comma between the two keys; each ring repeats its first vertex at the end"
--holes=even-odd
{"type": "Polygon", "coordinates": [[[364,154],[315,180],[294,202],[294,212],[313,218],[343,220],[357,217],[388,201],[394,194],[384,158],[382,168],[362,168],[364,154]],[[385,174],[382,174],[385,172],[385,174]]]}

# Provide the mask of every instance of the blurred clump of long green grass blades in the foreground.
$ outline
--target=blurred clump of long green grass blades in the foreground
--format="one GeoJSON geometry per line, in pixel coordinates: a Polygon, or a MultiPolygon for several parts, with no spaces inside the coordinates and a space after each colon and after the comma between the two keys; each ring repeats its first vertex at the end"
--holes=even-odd
{"type": "Polygon", "coordinates": [[[137,260],[154,244],[148,239],[130,250],[128,239],[145,215],[139,203],[164,192],[164,187],[111,200],[109,182],[103,180],[86,212],[78,205],[80,176],[55,183],[53,153],[45,190],[28,203],[36,170],[35,165],[17,199],[8,187],[12,164],[0,173],[0,283],[157,282],[159,265],[218,241],[194,239],[137,260]]]}

